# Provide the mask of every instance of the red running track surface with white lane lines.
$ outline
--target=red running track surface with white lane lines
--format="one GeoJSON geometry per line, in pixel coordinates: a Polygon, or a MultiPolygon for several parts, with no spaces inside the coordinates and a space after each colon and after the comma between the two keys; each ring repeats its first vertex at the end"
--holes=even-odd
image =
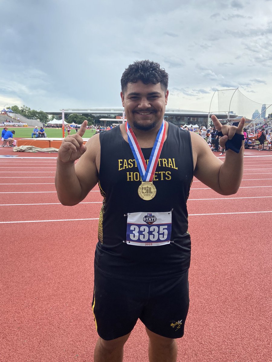
{"type": "MultiPolygon", "coordinates": [[[[0,150],[4,154],[14,155],[12,149],[0,150]]],[[[247,155],[236,195],[192,184],[190,309],[178,340],[180,362],[272,361],[272,155],[247,155]]],[[[54,157],[0,158],[0,361],[93,360],[93,258],[102,197],[91,192],[85,203],[60,205],[54,157]]],[[[147,344],[139,322],[124,361],[148,361],[147,344]]]]}

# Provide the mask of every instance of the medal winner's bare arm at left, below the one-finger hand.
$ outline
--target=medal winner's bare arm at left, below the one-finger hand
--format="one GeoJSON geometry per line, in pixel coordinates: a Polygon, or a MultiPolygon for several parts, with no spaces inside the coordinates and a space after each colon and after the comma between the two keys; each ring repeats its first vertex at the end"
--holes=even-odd
{"type": "MultiPolygon", "coordinates": [[[[78,137],[75,138],[76,135],[73,136],[70,137],[78,140],[78,137]]],[[[68,137],[66,137],[65,140],[67,139],[68,137]]],[[[63,142],[65,142],[65,140],[63,142]]],[[[61,157],[61,153],[59,153],[55,186],[58,199],[63,205],[77,205],[98,182],[98,168],[100,162],[99,136],[93,136],[88,140],[85,146],[86,151],[82,156],[79,155],[80,158],[76,164],[74,160],[66,162],[65,158],[61,157]]]]}

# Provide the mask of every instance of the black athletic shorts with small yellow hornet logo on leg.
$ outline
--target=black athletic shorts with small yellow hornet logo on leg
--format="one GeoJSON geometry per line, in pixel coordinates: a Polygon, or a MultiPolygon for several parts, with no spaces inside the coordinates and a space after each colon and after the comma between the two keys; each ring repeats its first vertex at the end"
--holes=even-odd
{"type": "Polygon", "coordinates": [[[188,270],[178,277],[139,281],[116,278],[95,267],[92,311],[104,340],[128,334],[138,318],[160,336],[180,338],[188,309],[188,270]]]}

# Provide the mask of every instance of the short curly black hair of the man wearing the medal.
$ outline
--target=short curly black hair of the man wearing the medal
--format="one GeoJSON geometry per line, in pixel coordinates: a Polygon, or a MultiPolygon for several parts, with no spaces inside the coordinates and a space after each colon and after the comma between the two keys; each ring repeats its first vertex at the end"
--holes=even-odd
{"type": "Polygon", "coordinates": [[[168,89],[168,73],[160,64],[152,60],[140,60],[130,64],[121,77],[121,90],[124,93],[128,83],[136,83],[141,80],[144,84],[161,83],[161,88],[166,92],[168,89]]]}

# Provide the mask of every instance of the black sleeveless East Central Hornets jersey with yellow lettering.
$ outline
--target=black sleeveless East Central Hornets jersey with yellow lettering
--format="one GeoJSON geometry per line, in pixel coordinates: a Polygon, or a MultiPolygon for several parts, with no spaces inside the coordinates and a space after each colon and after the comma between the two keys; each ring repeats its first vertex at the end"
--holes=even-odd
{"type": "MultiPolygon", "coordinates": [[[[178,275],[190,266],[191,241],[186,201],[193,180],[193,156],[188,131],[168,123],[153,178],[157,193],[152,200],[138,195],[139,170],[120,126],[102,132],[99,187],[104,197],[100,211],[95,265],[121,278],[178,275]],[[127,213],[172,210],[171,243],[156,247],[126,244],[127,213]]],[[[142,148],[145,160],[152,148],[142,148]]]]}

